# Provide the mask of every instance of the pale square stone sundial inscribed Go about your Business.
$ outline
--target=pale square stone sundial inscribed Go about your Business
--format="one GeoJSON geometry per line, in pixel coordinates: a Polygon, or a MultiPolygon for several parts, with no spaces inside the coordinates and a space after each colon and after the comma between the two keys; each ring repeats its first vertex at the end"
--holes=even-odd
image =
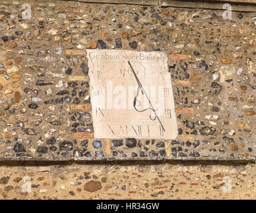
{"type": "Polygon", "coordinates": [[[95,138],[177,136],[167,56],[87,50],[95,138]]]}

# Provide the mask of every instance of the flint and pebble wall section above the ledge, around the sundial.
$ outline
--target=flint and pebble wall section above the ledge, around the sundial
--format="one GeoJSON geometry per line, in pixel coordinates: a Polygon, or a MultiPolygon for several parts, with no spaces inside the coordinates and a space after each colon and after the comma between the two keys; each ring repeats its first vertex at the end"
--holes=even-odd
{"type": "MultiPolygon", "coordinates": [[[[176,1],[166,1],[170,3],[176,1]]],[[[233,5],[231,19],[223,19],[222,5],[221,10],[191,10],[68,1],[30,4],[29,21],[21,19],[18,1],[4,1],[5,13],[0,12],[2,160],[255,159],[254,13],[237,12],[240,5],[233,5]],[[90,43],[104,51],[168,55],[175,140],[95,137],[90,43]]],[[[142,86],[148,86],[146,80],[142,86]]]]}

